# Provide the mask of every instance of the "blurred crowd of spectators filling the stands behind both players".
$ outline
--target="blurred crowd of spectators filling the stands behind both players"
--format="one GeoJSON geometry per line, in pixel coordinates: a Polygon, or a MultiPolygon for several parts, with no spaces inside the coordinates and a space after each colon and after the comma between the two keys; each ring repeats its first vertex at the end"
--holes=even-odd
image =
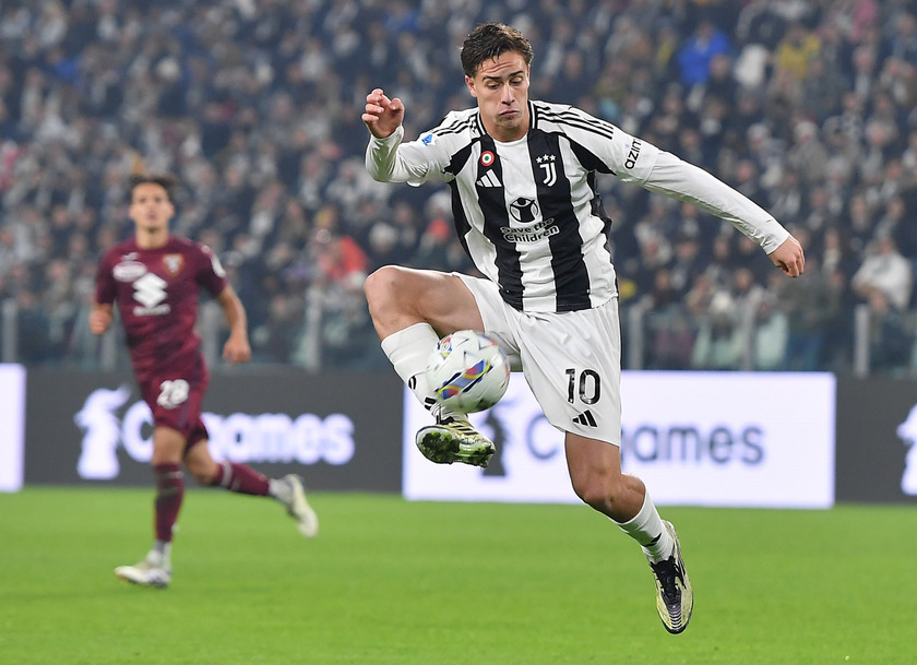
{"type": "Polygon", "coordinates": [[[806,248],[806,274],[787,280],[690,203],[600,180],[622,310],[639,321],[630,365],[848,371],[859,311],[871,369],[908,372],[915,4],[0,0],[0,302],[17,357],[96,361],[95,265],[132,233],[140,157],[183,182],[174,230],[223,259],[257,361],[382,366],[366,275],[471,265],[444,187],[368,179],[366,94],[402,97],[416,136],[473,104],[458,48],[501,21],[533,43],[532,97],[712,171],[806,248]]]}

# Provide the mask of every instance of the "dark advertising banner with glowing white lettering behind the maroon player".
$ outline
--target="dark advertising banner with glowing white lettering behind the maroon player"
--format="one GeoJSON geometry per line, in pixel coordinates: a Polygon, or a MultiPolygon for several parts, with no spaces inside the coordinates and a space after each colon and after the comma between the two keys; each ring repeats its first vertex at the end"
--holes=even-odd
{"type": "MultiPolygon", "coordinates": [[[[214,375],[211,452],[273,477],[300,473],[309,489],[398,491],[400,387],[393,372],[214,375]]],[[[150,408],[131,376],[32,370],[27,394],[27,483],[151,483],[150,408]]]]}

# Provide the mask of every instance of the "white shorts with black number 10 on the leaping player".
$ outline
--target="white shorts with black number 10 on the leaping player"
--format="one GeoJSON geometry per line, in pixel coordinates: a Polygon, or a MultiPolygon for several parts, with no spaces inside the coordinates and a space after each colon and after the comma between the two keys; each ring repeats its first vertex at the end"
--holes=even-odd
{"type": "Polygon", "coordinates": [[[484,332],[522,370],[548,421],[561,431],[621,444],[621,323],[618,299],[594,309],[525,313],[489,280],[458,276],[484,332]]]}

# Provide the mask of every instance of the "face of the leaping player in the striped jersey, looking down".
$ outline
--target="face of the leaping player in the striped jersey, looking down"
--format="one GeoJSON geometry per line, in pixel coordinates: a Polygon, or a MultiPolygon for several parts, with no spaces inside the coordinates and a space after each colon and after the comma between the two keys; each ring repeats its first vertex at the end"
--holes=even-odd
{"type": "Polygon", "coordinates": [[[528,131],[528,66],[515,51],[486,60],[474,78],[465,76],[477,98],[487,132],[498,141],[515,141],[528,131]]]}

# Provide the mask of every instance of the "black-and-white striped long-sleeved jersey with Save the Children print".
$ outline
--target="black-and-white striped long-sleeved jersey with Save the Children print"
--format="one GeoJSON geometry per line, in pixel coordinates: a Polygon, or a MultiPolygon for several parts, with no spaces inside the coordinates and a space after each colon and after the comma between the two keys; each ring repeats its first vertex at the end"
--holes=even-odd
{"type": "Polygon", "coordinates": [[[528,109],[528,132],[517,141],[495,141],[472,108],[416,141],[402,142],[401,127],[371,138],[366,156],[377,180],[450,185],[465,250],[519,310],[587,309],[617,294],[597,173],[692,201],[769,253],[788,236],[733,188],[609,122],[559,104],[529,100],[528,109]]]}

